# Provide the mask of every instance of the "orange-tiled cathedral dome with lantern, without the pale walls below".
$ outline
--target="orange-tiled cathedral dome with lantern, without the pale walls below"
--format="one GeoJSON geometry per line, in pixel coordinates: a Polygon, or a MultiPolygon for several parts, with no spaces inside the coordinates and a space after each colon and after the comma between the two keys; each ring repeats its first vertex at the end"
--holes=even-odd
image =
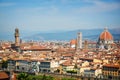
{"type": "Polygon", "coordinates": [[[100,34],[99,37],[100,40],[113,40],[113,36],[111,33],[107,30],[107,28],[104,29],[104,31],[100,34]]]}

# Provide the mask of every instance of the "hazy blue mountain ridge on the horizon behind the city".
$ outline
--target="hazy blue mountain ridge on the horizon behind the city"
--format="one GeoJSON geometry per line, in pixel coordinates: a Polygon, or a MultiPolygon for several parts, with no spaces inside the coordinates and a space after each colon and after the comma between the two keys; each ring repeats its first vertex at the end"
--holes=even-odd
{"type": "MultiPolygon", "coordinates": [[[[31,36],[23,37],[24,40],[71,40],[76,39],[77,33],[82,32],[83,39],[98,40],[103,29],[82,29],[54,33],[38,33],[31,36]]],[[[110,29],[109,32],[113,35],[114,40],[120,40],[120,29],[110,29]]]]}

